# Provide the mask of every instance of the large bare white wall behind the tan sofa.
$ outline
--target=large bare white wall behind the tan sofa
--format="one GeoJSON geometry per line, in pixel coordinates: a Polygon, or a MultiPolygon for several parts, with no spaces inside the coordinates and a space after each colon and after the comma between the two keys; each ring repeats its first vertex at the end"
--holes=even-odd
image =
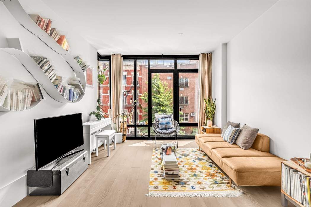
{"type": "Polygon", "coordinates": [[[280,0],[228,43],[228,120],[285,159],[309,157],[311,1],[280,0]]]}

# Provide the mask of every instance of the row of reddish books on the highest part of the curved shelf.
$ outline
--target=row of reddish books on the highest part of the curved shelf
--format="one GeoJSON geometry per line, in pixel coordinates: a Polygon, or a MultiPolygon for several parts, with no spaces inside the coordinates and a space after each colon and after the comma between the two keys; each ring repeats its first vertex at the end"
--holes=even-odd
{"type": "Polygon", "coordinates": [[[50,35],[53,40],[55,40],[63,49],[69,51],[70,46],[67,43],[65,35],[59,35],[58,31],[52,27],[52,20],[43,18],[37,14],[30,14],[30,18],[47,34],[50,35]]]}

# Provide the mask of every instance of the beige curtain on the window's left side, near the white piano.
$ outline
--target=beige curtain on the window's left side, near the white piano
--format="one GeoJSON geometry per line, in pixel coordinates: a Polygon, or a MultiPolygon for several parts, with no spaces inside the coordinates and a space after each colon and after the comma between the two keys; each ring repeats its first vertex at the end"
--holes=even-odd
{"type": "MultiPolygon", "coordinates": [[[[122,74],[123,57],[121,54],[111,55],[111,116],[115,117],[121,113],[122,105],[122,74]]],[[[116,130],[119,130],[120,122],[116,117],[112,120],[116,124],[116,130]]]]}

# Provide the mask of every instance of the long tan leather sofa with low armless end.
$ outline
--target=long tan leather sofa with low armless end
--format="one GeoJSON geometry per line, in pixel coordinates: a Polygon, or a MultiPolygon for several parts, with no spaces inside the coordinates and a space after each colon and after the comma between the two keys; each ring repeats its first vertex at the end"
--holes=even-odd
{"type": "Polygon", "coordinates": [[[223,141],[221,134],[197,134],[195,141],[238,186],[279,186],[281,184],[281,161],[272,155],[270,139],[258,133],[248,150],[223,141]]]}

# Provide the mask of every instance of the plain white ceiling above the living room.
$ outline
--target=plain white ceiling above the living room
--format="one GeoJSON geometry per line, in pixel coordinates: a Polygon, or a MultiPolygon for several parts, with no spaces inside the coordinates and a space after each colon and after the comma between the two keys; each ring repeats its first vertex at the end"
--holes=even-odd
{"type": "Polygon", "coordinates": [[[102,55],[199,54],[227,43],[277,0],[42,0],[102,55]],[[180,35],[178,33],[183,33],[180,35]]]}

